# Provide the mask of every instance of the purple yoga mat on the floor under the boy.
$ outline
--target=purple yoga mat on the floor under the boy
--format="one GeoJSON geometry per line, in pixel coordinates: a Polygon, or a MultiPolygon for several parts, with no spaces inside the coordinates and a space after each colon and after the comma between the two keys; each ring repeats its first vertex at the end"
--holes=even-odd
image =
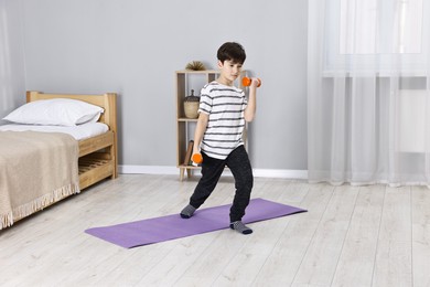
{"type": "MultiPolygon", "coordinates": [[[[229,209],[232,204],[197,210],[191,219],[180,214],[122,223],[105,227],[94,227],[85,232],[104,241],[125,248],[186,237],[201,233],[229,227],[229,209]]],[[[243,217],[244,223],[270,220],[305,210],[286,204],[252,199],[243,217]]]]}

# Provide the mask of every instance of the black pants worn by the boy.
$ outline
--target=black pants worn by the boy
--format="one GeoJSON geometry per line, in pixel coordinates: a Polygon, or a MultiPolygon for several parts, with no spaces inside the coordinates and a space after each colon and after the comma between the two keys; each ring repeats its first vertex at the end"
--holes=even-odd
{"type": "Polygon", "coordinates": [[[232,151],[225,160],[207,157],[204,152],[202,163],[202,178],[191,195],[190,204],[198,209],[214,191],[227,166],[235,178],[236,194],[230,209],[230,222],[240,221],[245,215],[245,209],[249,204],[250,193],[254,184],[252,169],[248,153],[244,146],[232,151]]]}

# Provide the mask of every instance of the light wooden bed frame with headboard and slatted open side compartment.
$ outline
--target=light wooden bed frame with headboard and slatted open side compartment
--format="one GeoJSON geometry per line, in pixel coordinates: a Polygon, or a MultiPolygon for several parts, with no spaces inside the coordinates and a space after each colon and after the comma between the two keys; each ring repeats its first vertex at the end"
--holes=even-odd
{"type": "Polygon", "coordinates": [[[118,177],[117,146],[117,95],[67,95],[26,92],[26,102],[50,98],[72,98],[83,100],[105,109],[99,121],[109,126],[109,130],[97,137],[79,141],[79,189],[83,190],[103,179],[118,177]]]}

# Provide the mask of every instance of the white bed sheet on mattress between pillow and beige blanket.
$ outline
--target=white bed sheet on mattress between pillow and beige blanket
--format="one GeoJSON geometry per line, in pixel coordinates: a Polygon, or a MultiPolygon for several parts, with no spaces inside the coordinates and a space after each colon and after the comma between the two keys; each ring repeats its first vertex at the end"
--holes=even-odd
{"type": "Polygon", "coordinates": [[[37,126],[37,125],[18,125],[9,124],[0,126],[0,131],[44,131],[44,132],[64,132],[74,137],[76,140],[83,140],[101,135],[109,130],[109,127],[101,123],[86,123],[75,127],[64,126],[37,126]]]}

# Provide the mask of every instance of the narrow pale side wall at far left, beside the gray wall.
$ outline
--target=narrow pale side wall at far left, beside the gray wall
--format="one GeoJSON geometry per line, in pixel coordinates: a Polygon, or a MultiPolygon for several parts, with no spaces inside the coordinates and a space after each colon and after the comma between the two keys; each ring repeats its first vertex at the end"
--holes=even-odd
{"type": "Polygon", "coordinates": [[[19,1],[0,0],[0,119],[25,102],[21,10],[19,1]]]}

